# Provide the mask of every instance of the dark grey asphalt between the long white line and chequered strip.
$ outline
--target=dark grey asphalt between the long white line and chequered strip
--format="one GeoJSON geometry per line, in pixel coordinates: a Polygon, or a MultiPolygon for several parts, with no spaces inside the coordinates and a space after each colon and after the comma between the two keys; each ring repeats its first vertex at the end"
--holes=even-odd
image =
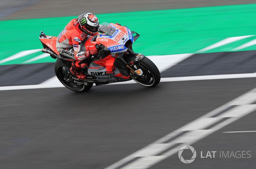
{"type": "MultiPolygon", "coordinates": [[[[122,84],[93,87],[84,94],[66,88],[1,91],[1,168],[103,169],[253,89],[255,82],[256,78],[163,82],[153,89],[122,84]]],[[[253,119],[234,125],[253,126],[253,119]]],[[[239,135],[214,136],[197,148],[211,148],[212,142],[223,149],[246,148],[240,147],[239,135]],[[220,140],[223,143],[217,144],[220,140]]],[[[242,139],[255,152],[253,138],[242,139]]],[[[213,164],[219,162],[222,168],[237,168],[231,162],[213,164]]],[[[244,168],[254,168],[254,163],[243,163],[244,168]]],[[[213,168],[211,163],[193,164],[185,167],[213,168]]],[[[176,154],[153,167],[184,164],[176,154]]]]}

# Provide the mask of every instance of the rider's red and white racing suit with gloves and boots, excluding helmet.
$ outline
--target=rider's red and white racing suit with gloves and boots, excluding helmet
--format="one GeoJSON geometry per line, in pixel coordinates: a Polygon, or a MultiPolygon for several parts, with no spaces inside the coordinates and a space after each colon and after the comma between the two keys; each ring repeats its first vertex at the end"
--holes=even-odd
{"type": "Polygon", "coordinates": [[[64,30],[60,32],[56,43],[57,51],[62,57],[75,59],[75,61],[72,62],[70,71],[79,79],[86,78],[86,75],[81,70],[88,69],[86,60],[98,53],[97,49],[85,51],[84,47],[82,47],[82,41],[86,38],[87,34],[79,29],[77,19],[72,19],[64,30]]]}

